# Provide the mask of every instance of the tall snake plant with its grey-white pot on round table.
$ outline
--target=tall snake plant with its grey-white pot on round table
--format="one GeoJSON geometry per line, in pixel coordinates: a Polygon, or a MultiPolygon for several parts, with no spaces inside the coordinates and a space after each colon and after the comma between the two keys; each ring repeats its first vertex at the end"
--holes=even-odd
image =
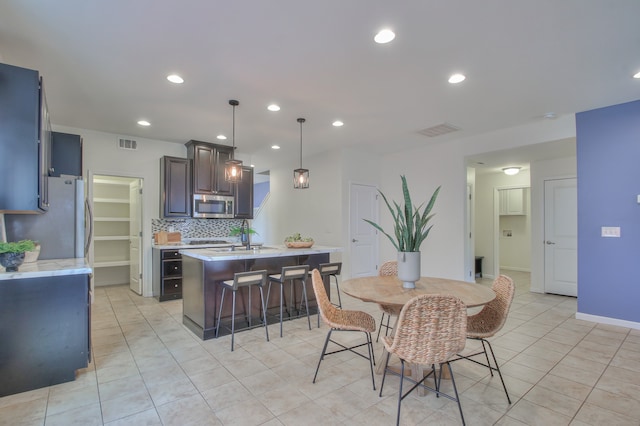
{"type": "Polygon", "coordinates": [[[377,223],[369,219],[364,220],[386,235],[391,244],[398,250],[398,278],[402,280],[403,287],[414,288],[415,282],[420,279],[420,245],[429,236],[429,232],[433,227],[433,225],[427,225],[429,225],[429,221],[433,217],[431,210],[441,187],[436,188],[426,206],[422,203],[416,207],[411,201],[407,178],[404,175],[400,176],[400,178],[402,179],[402,194],[404,198],[402,205],[394,201],[392,206],[382,191],[378,191],[393,218],[393,235],[395,238],[377,223]]]}

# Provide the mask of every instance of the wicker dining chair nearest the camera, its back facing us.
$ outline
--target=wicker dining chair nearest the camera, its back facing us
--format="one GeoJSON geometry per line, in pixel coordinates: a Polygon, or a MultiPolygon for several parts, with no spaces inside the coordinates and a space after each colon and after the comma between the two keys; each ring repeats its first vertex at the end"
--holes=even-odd
{"type": "MultiPolygon", "coordinates": [[[[418,386],[456,401],[460,410],[460,417],[464,425],[462,405],[458,396],[458,388],[453,377],[453,370],[449,361],[464,349],[467,336],[467,308],[462,300],[454,296],[440,294],[423,294],[409,300],[398,316],[398,324],[393,336],[385,336],[382,343],[387,350],[380,396],[387,373],[400,376],[398,390],[398,416],[396,424],[400,424],[400,407],[402,400],[418,386]],[[400,374],[389,369],[389,357],[394,354],[400,358],[400,374]],[[405,377],[405,364],[431,366],[431,371],[421,380],[414,381],[405,377]],[[440,374],[436,372],[436,364],[440,366],[440,374]],[[440,391],[442,369],[447,365],[451,376],[451,384],[455,397],[440,391]],[[425,384],[428,377],[433,376],[435,388],[425,384]],[[402,393],[405,380],[413,383],[411,389],[402,393]]],[[[415,368],[415,367],[414,367],[415,368]]]]}

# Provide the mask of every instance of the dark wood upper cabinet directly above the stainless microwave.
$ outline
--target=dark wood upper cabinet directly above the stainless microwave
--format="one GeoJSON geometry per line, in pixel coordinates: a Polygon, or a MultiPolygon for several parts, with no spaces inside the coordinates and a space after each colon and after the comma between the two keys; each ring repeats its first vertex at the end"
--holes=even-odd
{"type": "Polygon", "coordinates": [[[191,140],[187,157],[193,161],[193,193],[233,195],[234,185],[224,180],[224,165],[233,149],[225,145],[191,140]]]}

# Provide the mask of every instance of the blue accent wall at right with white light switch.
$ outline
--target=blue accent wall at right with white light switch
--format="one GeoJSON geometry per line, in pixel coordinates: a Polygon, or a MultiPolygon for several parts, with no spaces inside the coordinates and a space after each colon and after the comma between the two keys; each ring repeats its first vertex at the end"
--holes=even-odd
{"type": "Polygon", "coordinates": [[[576,114],[576,136],[578,312],[640,322],[640,100],[576,114]]]}

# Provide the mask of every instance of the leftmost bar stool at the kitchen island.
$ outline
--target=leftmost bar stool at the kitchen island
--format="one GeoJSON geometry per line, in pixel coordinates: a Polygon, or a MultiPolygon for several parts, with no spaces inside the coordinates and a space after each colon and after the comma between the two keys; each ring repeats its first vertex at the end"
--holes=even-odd
{"type": "MultiPolygon", "coordinates": [[[[220,332],[220,318],[222,316],[222,308],[224,306],[224,295],[227,290],[233,292],[233,302],[231,308],[231,351],[233,352],[233,344],[234,344],[234,334],[236,328],[236,293],[242,287],[250,287],[252,285],[257,285],[260,288],[260,302],[262,308],[262,325],[264,325],[264,331],[267,335],[267,342],[269,341],[269,329],[267,328],[267,309],[266,304],[264,302],[264,292],[263,287],[267,284],[267,271],[249,271],[249,272],[236,272],[233,275],[233,280],[222,281],[220,285],[222,285],[222,296],[220,298],[220,310],[218,311],[218,321],[216,323],[216,338],[218,337],[218,333],[220,332]]],[[[246,309],[245,309],[246,311],[246,309]]],[[[251,327],[251,289],[249,288],[249,311],[245,312],[245,317],[249,323],[249,327],[251,327]]]]}

